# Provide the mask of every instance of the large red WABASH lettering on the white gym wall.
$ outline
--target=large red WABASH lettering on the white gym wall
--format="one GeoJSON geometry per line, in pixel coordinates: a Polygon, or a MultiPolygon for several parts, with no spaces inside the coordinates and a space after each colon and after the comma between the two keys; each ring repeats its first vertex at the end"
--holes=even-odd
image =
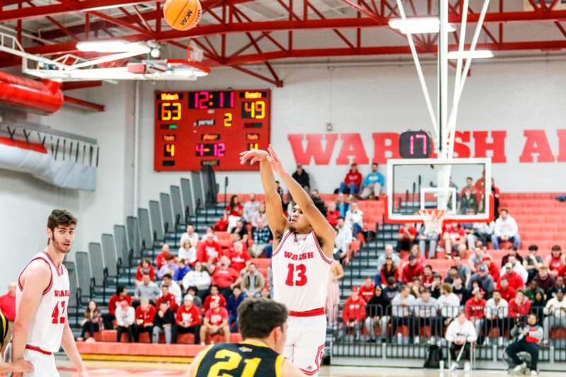
{"type": "MultiPolygon", "coordinates": [[[[553,151],[544,129],[525,129],[520,156],[507,157],[507,131],[456,131],[454,156],[459,158],[492,158],[493,163],[560,163],[566,162],[566,129],[558,129],[548,137],[558,139],[558,151],[553,151]]],[[[370,163],[370,158],[359,133],[354,134],[289,134],[287,135],[297,164],[349,165],[350,158],[359,164],[370,163]],[[330,161],[337,141],[342,141],[335,161],[330,161]]],[[[372,163],[386,163],[388,158],[400,158],[399,134],[397,132],[376,132],[371,134],[374,141],[372,163]]],[[[432,158],[437,157],[432,153],[432,158]]]]}

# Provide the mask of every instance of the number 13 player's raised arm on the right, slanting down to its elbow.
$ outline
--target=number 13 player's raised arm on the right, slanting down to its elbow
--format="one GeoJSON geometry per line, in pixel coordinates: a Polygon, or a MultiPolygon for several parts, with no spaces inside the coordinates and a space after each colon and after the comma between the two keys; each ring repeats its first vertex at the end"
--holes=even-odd
{"type": "Polygon", "coordinates": [[[326,255],[332,257],[333,250],[334,250],[334,239],[336,237],[336,233],[334,228],[328,224],[328,220],[326,217],[320,213],[318,208],[313,203],[313,199],[308,193],[303,190],[303,187],[296,182],[296,180],[289,175],[284,169],[281,164],[281,160],[279,160],[279,156],[273,150],[272,146],[269,146],[267,149],[269,152],[269,156],[267,156],[267,161],[270,162],[271,167],[279,176],[284,184],[291,192],[291,196],[296,204],[299,204],[299,208],[305,214],[308,222],[311,223],[313,230],[323,240],[323,250],[326,255]]]}

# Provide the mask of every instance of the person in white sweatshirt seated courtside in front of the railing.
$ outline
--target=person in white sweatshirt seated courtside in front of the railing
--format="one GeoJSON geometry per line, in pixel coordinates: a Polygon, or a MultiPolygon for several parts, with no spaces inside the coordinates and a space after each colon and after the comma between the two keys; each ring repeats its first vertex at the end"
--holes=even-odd
{"type": "Polygon", "coordinates": [[[453,320],[446,330],[446,340],[450,343],[450,354],[452,365],[450,370],[454,371],[458,368],[456,356],[460,350],[464,349],[461,359],[464,360],[464,371],[470,371],[470,344],[478,340],[478,334],[475,332],[473,323],[466,319],[466,313],[458,313],[456,320],[453,320]]]}

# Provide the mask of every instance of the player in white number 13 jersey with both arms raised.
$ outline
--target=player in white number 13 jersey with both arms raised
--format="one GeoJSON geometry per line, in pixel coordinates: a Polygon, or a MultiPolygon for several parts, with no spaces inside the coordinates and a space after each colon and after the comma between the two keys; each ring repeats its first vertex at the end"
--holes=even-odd
{"type": "Polygon", "coordinates": [[[307,376],[318,376],[326,337],[324,307],[335,238],[335,231],[326,220],[326,206],[322,199],[308,195],[283,169],[271,146],[267,151],[244,151],[240,161],[260,163],[267,224],[274,238],[274,299],[289,309],[283,354],[307,376]],[[273,172],[296,203],[290,221],[283,214],[273,172]]]}

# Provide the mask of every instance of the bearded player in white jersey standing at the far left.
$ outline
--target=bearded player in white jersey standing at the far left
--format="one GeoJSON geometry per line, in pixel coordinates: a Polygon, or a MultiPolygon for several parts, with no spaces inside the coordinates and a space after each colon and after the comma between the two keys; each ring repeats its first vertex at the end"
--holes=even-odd
{"type": "Polygon", "coordinates": [[[47,219],[47,248],[35,255],[18,277],[13,361],[28,360],[34,369],[23,376],[59,376],[53,354],[62,346],[79,376],[88,377],[67,320],[69,274],[63,259],[71,251],[75,227],[72,214],[54,209],[47,219]]]}

